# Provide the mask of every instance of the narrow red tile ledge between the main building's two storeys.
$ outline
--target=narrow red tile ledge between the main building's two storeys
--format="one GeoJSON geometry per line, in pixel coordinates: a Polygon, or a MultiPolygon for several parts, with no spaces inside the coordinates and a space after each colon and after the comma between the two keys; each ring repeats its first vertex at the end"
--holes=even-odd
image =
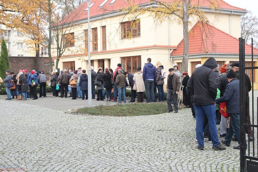
{"type": "MultiPolygon", "coordinates": [[[[102,54],[102,53],[114,53],[114,52],[120,52],[120,51],[132,51],[132,50],[140,50],[140,49],[152,49],[152,48],[165,48],[165,49],[175,49],[176,46],[168,46],[168,45],[148,45],[148,46],[141,46],[141,47],[133,47],[133,48],[122,48],[122,49],[116,49],[116,50],[104,50],[104,51],[93,51],[92,54],[102,54]]],[[[61,57],[73,57],[73,56],[82,56],[87,55],[87,53],[81,53],[81,54],[71,54],[71,55],[62,55],[61,57]]],[[[57,56],[52,57],[57,58],[57,56]]]]}

